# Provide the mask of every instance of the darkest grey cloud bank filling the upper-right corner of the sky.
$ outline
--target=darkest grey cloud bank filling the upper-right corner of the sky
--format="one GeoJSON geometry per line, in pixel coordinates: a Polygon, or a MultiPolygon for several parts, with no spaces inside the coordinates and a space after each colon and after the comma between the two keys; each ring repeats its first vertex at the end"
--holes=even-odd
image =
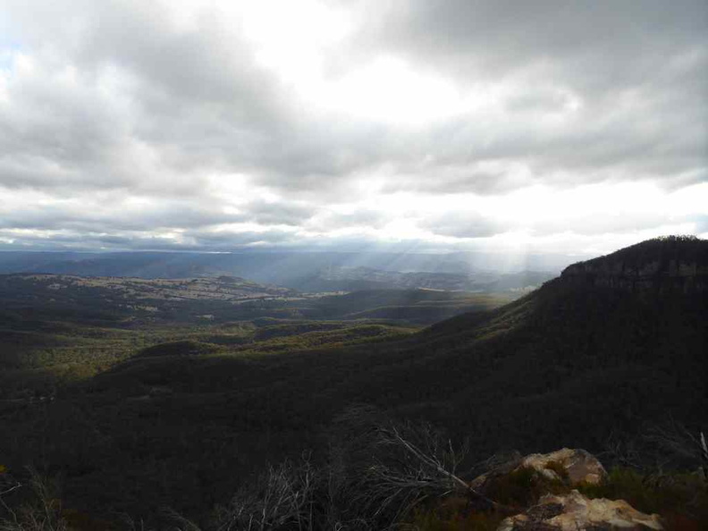
{"type": "Polygon", "coordinates": [[[561,61],[576,63],[578,72],[592,77],[645,72],[657,55],[667,58],[695,46],[704,40],[707,16],[701,0],[680,7],[662,0],[397,0],[384,5],[388,16],[363,30],[371,46],[384,43],[458,72],[508,72],[519,65],[561,61]]]}

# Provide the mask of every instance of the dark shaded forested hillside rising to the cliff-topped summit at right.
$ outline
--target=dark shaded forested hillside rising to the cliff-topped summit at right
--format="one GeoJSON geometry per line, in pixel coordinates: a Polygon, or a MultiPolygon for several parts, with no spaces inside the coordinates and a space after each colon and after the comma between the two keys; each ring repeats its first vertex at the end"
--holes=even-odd
{"type": "Polygon", "coordinates": [[[324,446],[353,404],[433,421],[480,459],[500,448],[603,450],[666,417],[695,429],[708,410],[706,293],[662,282],[690,255],[694,273],[681,285],[704,285],[706,246],[645,242],[593,270],[571,266],[503,308],[395,341],[132,358],[38,418],[12,413],[15,436],[0,451],[62,470],[72,506],[139,515],[170,503],[199,515],[266,461],[324,446]],[[657,257],[666,266],[641,290],[583,276],[657,257]]]}

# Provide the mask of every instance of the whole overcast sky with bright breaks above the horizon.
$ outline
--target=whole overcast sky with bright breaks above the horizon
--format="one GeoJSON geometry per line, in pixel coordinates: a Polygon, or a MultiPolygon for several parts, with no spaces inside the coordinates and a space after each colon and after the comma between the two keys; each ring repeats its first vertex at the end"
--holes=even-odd
{"type": "Polygon", "coordinates": [[[708,237],[704,0],[0,0],[0,250],[708,237]]]}

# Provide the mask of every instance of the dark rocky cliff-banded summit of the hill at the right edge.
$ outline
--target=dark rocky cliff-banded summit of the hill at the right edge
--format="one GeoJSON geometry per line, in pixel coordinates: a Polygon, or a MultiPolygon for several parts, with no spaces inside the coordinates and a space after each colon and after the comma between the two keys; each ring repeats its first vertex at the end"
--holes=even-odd
{"type": "Polygon", "coordinates": [[[611,255],[569,265],[561,281],[659,293],[708,292],[708,241],[693,236],[646,240],[611,255]]]}

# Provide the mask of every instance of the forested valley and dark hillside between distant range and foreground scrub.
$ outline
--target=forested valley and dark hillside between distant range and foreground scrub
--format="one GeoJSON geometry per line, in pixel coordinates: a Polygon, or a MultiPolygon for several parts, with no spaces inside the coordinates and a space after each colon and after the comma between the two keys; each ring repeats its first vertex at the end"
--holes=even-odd
{"type": "Polygon", "coordinates": [[[207,525],[269,463],[323,463],[352,409],[439,426],[468,467],[602,453],[668,420],[697,433],[706,245],[649,240],[520,298],[5,275],[2,464],[61,474],[65,506],[94,518],[156,525],[169,506],[207,525]]]}

